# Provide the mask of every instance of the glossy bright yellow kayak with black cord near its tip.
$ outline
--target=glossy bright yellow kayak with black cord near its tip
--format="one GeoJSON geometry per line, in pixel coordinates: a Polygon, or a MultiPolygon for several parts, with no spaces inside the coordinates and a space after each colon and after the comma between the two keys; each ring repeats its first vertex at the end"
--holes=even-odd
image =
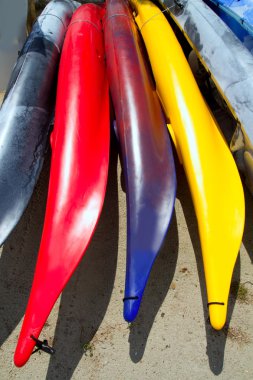
{"type": "Polygon", "coordinates": [[[190,185],[201,240],[210,321],[219,330],[226,322],[231,278],[244,228],[241,180],[163,13],[147,0],[130,0],[130,3],[190,185]]]}

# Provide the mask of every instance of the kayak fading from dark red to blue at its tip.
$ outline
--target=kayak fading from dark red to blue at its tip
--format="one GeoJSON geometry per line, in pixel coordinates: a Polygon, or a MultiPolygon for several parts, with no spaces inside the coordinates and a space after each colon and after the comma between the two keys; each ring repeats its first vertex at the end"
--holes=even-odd
{"type": "Polygon", "coordinates": [[[124,318],[138,313],[174,208],[172,148],[143,46],[124,1],[107,1],[107,72],[127,194],[124,318]]]}

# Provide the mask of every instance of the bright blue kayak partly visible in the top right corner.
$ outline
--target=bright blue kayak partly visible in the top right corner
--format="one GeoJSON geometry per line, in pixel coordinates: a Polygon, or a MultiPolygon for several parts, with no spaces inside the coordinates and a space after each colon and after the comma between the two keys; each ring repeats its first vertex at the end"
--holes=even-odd
{"type": "Polygon", "coordinates": [[[253,1],[204,0],[253,53],[253,1]]]}

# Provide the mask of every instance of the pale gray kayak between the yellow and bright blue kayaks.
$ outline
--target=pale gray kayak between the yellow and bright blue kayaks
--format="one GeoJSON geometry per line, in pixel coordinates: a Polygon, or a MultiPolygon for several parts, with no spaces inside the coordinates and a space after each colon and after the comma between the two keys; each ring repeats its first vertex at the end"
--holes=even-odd
{"type": "Polygon", "coordinates": [[[253,192],[253,56],[202,0],[159,0],[183,32],[230,109],[229,141],[253,192]]]}

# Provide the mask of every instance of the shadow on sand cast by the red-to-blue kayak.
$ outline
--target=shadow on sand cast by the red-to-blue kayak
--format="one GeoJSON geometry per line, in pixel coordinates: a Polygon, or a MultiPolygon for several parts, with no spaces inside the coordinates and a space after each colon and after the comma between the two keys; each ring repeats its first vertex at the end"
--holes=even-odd
{"type": "Polygon", "coordinates": [[[138,363],[145,352],[155,317],[168,293],[178,257],[178,229],[174,212],[163,246],[152,268],[137,318],[130,325],[130,358],[138,363]]]}

